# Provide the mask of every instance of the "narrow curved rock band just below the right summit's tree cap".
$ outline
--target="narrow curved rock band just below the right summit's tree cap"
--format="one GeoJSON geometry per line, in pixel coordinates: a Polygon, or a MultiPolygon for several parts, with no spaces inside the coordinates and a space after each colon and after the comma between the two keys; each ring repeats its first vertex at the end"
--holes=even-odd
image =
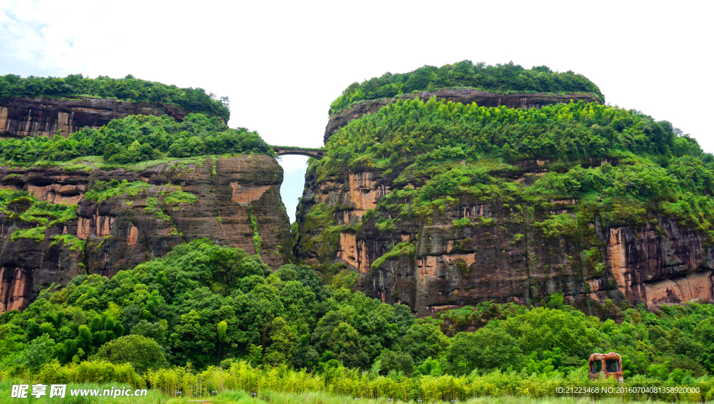
{"type": "MultiPolygon", "coordinates": [[[[516,94],[493,94],[474,89],[441,89],[436,91],[421,91],[417,94],[403,94],[401,99],[431,99],[436,96],[438,100],[460,102],[463,104],[475,102],[478,106],[507,106],[508,108],[540,108],[553,103],[573,102],[600,102],[596,96],[587,93],[568,94],[548,94],[548,93],[516,93],[516,94]]],[[[353,106],[344,108],[338,113],[330,116],[330,120],[325,128],[324,141],[332,136],[339,128],[345,126],[349,121],[359,118],[365,114],[375,113],[396,99],[378,99],[364,101],[353,106]]]]}

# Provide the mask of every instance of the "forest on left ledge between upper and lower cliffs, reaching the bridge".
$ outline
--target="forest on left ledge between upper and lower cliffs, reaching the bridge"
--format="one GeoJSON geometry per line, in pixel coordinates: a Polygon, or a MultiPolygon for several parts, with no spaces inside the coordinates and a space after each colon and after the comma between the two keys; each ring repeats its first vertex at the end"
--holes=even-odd
{"type": "Polygon", "coordinates": [[[44,136],[0,140],[0,161],[27,166],[39,161],[63,162],[103,156],[106,163],[151,161],[223,153],[266,153],[273,149],[255,131],[228,128],[220,118],[191,113],[183,122],[168,115],[133,115],[101,128],[83,128],[68,137],[44,136]]]}

